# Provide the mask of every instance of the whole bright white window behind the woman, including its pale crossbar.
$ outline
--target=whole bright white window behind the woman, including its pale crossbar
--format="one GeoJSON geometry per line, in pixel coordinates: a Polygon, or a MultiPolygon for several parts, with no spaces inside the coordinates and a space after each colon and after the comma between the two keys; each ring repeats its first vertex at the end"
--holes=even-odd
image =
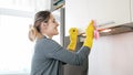
{"type": "Polygon", "coordinates": [[[0,0],[0,74],[29,74],[34,43],[29,24],[49,0],[0,0]]]}

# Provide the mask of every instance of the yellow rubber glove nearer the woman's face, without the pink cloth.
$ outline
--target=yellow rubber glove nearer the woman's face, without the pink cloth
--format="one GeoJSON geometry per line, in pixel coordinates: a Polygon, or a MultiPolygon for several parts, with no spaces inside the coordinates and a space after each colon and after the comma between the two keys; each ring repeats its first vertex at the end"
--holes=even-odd
{"type": "Polygon", "coordinates": [[[69,30],[69,34],[70,34],[70,44],[68,45],[68,50],[75,51],[76,40],[78,40],[78,29],[71,28],[69,30]]]}

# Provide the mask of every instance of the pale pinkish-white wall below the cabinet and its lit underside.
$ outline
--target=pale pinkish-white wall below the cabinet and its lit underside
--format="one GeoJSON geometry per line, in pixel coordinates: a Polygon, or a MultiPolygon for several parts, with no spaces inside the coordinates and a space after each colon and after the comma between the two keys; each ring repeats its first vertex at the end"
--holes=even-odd
{"type": "Polygon", "coordinates": [[[133,75],[133,32],[102,36],[89,56],[89,75],[133,75]]]}

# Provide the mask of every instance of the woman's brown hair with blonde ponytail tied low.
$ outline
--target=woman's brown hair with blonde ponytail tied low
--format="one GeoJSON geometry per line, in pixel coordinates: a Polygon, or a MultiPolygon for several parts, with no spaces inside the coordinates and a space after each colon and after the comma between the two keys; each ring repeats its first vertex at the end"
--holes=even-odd
{"type": "Polygon", "coordinates": [[[50,19],[50,11],[39,11],[35,13],[34,17],[34,24],[30,25],[29,30],[29,40],[34,41],[35,39],[42,38],[41,33],[41,22],[48,23],[50,19]]]}

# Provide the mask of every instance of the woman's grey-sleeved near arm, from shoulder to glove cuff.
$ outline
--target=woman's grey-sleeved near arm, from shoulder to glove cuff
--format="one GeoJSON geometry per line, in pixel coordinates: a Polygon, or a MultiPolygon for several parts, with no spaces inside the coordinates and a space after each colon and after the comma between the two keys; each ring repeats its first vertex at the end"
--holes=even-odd
{"type": "Polygon", "coordinates": [[[59,60],[71,65],[82,65],[90,53],[90,49],[86,46],[81,47],[79,52],[68,51],[52,40],[47,40],[42,44],[42,46],[39,45],[40,50],[44,52],[48,58],[59,60]]]}

